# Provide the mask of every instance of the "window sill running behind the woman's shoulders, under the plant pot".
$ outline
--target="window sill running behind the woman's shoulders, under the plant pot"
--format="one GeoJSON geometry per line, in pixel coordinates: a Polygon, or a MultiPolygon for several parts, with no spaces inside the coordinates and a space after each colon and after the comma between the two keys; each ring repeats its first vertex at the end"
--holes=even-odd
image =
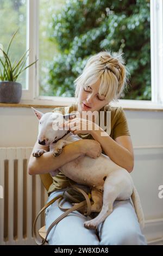
{"type": "MultiPolygon", "coordinates": [[[[55,97],[52,99],[39,100],[21,100],[20,103],[0,103],[0,107],[24,107],[24,108],[55,108],[61,106],[70,106],[75,102],[74,97],[55,97]]],[[[118,102],[111,102],[111,106],[123,107],[127,111],[163,111],[163,105],[153,103],[151,101],[142,100],[118,100],[118,102]]]]}

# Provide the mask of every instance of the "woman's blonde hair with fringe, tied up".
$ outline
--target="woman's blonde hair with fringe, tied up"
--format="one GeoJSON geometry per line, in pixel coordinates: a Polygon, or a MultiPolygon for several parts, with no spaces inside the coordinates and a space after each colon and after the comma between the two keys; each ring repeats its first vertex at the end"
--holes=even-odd
{"type": "Polygon", "coordinates": [[[75,97],[78,97],[81,86],[96,83],[100,78],[99,95],[104,95],[108,102],[117,101],[127,86],[129,75],[122,55],[114,54],[113,57],[111,51],[102,51],[90,57],[82,74],[74,81],[75,97]]]}

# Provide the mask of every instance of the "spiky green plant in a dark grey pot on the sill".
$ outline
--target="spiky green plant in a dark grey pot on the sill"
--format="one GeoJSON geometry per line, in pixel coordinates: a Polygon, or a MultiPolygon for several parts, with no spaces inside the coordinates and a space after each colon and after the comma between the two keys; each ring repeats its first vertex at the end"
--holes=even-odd
{"type": "Polygon", "coordinates": [[[30,51],[30,49],[28,49],[17,62],[11,63],[9,49],[17,31],[12,35],[7,51],[5,52],[0,48],[0,53],[2,53],[0,54],[0,63],[2,64],[2,67],[0,66],[0,102],[3,103],[20,102],[22,96],[22,84],[16,82],[17,78],[24,70],[37,62],[36,60],[32,64],[25,66],[30,51]],[[1,57],[1,55],[3,57],[1,57]]]}

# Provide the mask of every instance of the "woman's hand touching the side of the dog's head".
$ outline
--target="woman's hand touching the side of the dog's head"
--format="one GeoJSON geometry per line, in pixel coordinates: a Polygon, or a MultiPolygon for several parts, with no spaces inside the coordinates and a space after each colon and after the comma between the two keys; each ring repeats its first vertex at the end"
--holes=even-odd
{"type": "Polygon", "coordinates": [[[73,118],[66,121],[64,124],[59,126],[59,129],[70,130],[74,135],[77,134],[87,134],[94,130],[98,130],[98,125],[93,123],[90,120],[82,119],[82,118],[73,118]]]}

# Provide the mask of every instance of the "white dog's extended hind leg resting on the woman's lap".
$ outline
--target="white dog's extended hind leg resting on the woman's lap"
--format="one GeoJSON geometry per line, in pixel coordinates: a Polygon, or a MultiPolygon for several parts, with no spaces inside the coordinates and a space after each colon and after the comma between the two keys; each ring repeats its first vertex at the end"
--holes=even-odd
{"type": "Polygon", "coordinates": [[[104,182],[103,192],[103,206],[102,210],[96,218],[84,223],[84,227],[88,229],[97,229],[98,225],[105,220],[112,212],[112,205],[115,199],[120,194],[120,187],[118,183],[121,182],[117,179],[115,174],[111,174],[106,177],[104,182]]]}

